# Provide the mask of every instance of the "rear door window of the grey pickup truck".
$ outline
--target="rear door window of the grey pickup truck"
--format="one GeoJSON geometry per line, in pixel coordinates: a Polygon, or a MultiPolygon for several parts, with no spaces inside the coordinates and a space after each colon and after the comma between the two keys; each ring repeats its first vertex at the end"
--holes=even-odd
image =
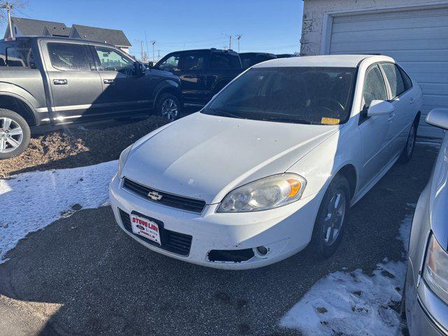
{"type": "Polygon", "coordinates": [[[48,43],[53,68],[63,71],[90,71],[87,49],[83,44],[48,43]]]}

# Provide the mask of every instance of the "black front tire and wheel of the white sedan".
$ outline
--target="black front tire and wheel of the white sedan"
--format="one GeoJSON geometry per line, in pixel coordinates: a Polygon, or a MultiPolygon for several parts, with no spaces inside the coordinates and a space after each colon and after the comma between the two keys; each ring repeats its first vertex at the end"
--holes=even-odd
{"type": "Polygon", "coordinates": [[[316,222],[314,223],[310,247],[317,258],[328,258],[335,253],[344,234],[349,207],[349,182],[344,176],[337,175],[323,196],[316,222]],[[339,201],[336,204],[338,197],[339,201]],[[339,211],[336,211],[339,204],[339,211]]]}

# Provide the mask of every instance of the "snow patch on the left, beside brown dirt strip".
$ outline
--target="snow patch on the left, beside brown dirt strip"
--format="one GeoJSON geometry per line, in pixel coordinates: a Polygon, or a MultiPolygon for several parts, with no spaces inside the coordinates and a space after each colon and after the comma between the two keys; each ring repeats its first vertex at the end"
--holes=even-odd
{"type": "Polygon", "coordinates": [[[107,204],[117,161],[73,169],[30,172],[0,180],[0,264],[29,232],[80,209],[107,204]]]}

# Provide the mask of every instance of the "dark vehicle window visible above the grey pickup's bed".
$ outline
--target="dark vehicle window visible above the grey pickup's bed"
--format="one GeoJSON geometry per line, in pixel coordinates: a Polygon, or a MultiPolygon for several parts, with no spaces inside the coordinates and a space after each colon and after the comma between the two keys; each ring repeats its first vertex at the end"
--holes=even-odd
{"type": "Polygon", "coordinates": [[[0,66],[34,66],[34,57],[29,41],[0,43],[0,66]]]}

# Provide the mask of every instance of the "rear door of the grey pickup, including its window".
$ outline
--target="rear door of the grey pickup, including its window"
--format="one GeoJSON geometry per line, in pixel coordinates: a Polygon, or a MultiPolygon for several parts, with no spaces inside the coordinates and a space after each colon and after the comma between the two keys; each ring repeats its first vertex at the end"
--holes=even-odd
{"type": "Polygon", "coordinates": [[[103,88],[88,46],[43,40],[41,49],[55,121],[71,121],[97,113],[103,88]]]}

